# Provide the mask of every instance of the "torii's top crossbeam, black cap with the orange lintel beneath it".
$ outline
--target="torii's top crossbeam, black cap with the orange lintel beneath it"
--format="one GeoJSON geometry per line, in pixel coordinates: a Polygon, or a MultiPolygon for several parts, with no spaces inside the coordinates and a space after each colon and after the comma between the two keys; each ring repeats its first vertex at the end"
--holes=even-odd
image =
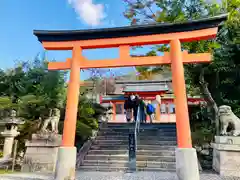
{"type": "Polygon", "coordinates": [[[163,44],[169,43],[172,39],[188,42],[214,38],[218,31],[217,27],[226,19],[227,14],[223,14],[183,23],[159,23],[75,31],[35,30],[34,34],[48,50],[71,50],[73,46],[91,49],[121,45],[163,44]]]}

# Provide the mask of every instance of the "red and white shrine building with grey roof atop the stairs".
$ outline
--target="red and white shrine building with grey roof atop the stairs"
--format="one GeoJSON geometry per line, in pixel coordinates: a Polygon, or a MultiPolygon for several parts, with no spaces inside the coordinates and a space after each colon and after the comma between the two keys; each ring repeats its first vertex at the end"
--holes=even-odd
{"type": "MultiPolygon", "coordinates": [[[[100,96],[100,103],[111,105],[113,117],[111,122],[126,122],[124,101],[131,94],[138,94],[141,99],[150,100],[156,107],[154,123],[176,123],[176,111],[172,81],[159,80],[116,80],[116,93],[100,96]],[[156,102],[156,96],[161,96],[161,104],[156,102]]],[[[188,95],[188,106],[204,103],[201,96],[188,95]]],[[[148,120],[147,120],[148,121],[148,120]]]]}

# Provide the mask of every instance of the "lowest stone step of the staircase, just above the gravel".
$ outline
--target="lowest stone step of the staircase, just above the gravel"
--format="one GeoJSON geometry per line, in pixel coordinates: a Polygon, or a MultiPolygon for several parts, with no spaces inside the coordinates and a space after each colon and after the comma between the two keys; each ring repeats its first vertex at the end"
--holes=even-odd
{"type": "MultiPolygon", "coordinates": [[[[109,167],[109,166],[80,166],[78,171],[102,171],[102,172],[129,172],[129,168],[128,167],[109,167]]],[[[145,168],[141,168],[141,167],[137,167],[137,171],[152,171],[152,172],[156,172],[156,171],[167,171],[167,172],[175,172],[176,169],[166,169],[166,168],[156,168],[156,167],[145,167],[145,168]]]]}

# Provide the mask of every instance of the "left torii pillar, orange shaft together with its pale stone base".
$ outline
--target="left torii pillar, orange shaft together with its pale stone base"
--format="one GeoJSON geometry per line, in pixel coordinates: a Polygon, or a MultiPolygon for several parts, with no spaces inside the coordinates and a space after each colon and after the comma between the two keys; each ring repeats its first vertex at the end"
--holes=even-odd
{"type": "Polygon", "coordinates": [[[56,180],[61,180],[62,177],[66,177],[66,174],[68,177],[75,177],[77,149],[74,144],[80,88],[79,59],[82,57],[81,54],[82,50],[80,47],[73,47],[62,146],[58,148],[56,163],[56,180]]]}

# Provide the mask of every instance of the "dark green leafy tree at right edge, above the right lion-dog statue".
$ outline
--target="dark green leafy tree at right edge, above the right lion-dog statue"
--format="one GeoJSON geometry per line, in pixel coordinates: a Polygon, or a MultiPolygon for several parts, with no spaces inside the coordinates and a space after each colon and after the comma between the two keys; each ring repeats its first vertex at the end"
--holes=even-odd
{"type": "Polygon", "coordinates": [[[214,51],[214,63],[208,67],[207,77],[215,76],[216,87],[209,82],[209,88],[218,104],[232,106],[234,112],[240,115],[240,2],[231,1],[228,4],[229,20],[217,38],[220,48],[214,51]],[[218,91],[216,91],[216,88],[218,91]]]}

